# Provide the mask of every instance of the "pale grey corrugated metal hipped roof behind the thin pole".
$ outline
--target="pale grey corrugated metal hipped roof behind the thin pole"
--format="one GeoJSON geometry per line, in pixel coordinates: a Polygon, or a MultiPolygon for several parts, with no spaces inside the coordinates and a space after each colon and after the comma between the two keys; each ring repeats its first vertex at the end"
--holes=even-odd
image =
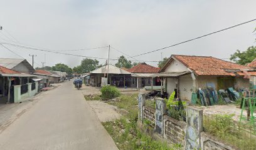
{"type": "MultiPolygon", "coordinates": [[[[107,73],[107,65],[102,66],[99,69],[96,69],[94,71],[90,72],[91,74],[104,74],[107,73]]],[[[128,71],[125,71],[123,69],[117,68],[113,66],[112,64],[109,64],[109,74],[131,74],[128,71]]]]}

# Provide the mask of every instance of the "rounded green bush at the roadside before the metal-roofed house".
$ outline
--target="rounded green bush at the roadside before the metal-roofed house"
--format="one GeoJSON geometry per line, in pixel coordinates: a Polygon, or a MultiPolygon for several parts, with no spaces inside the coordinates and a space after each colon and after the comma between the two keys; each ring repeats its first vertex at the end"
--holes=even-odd
{"type": "Polygon", "coordinates": [[[121,95],[119,89],[115,88],[115,86],[104,86],[100,89],[100,92],[102,93],[102,98],[105,99],[117,98],[121,95]]]}

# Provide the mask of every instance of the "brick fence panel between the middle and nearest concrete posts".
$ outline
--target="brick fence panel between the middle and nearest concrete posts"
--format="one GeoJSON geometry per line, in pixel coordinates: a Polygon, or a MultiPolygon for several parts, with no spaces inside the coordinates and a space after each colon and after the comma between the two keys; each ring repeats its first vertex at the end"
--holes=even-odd
{"type": "Polygon", "coordinates": [[[184,146],[186,123],[164,115],[164,138],[184,146]]]}

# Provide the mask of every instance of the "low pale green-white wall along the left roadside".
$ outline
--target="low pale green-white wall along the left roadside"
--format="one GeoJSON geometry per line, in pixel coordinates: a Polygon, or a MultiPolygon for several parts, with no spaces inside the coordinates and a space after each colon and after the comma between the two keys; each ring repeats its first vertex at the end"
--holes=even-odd
{"type": "Polygon", "coordinates": [[[31,96],[35,96],[36,93],[38,93],[38,82],[27,83],[27,84],[23,84],[23,85],[16,85],[16,86],[14,86],[14,103],[23,102],[24,99],[29,98],[31,96]],[[35,85],[32,85],[32,84],[35,84],[35,85]],[[24,85],[28,87],[28,90],[26,90],[25,93],[21,89],[21,86],[24,86],[24,85]],[[33,86],[33,88],[32,88],[32,86],[33,86]]]}

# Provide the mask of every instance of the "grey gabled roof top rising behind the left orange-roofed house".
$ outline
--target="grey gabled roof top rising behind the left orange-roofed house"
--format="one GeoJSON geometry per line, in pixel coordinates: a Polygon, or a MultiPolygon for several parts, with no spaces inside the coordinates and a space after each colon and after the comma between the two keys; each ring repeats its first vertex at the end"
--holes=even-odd
{"type": "Polygon", "coordinates": [[[3,66],[19,73],[35,73],[35,69],[26,59],[0,58],[0,66],[3,66]]]}

